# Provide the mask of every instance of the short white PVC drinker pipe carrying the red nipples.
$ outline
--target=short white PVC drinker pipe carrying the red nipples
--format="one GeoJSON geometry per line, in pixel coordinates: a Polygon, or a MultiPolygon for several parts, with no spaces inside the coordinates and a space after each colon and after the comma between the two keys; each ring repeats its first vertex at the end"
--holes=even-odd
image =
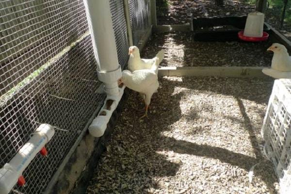
{"type": "Polygon", "coordinates": [[[0,194],[8,194],[36,154],[51,140],[54,129],[41,124],[15,157],[0,169],[0,194]]]}

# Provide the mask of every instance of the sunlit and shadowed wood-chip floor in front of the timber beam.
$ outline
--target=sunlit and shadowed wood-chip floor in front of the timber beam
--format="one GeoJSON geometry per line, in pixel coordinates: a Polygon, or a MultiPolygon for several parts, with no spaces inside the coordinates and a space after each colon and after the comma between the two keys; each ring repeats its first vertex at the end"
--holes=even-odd
{"type": "Polygon", "coordinates": [[[275,194],[260,129],[273,81],[160,78],[149,118],[132,92],[87,194],[275,194]],[[249,170],[254,169],[250,183],[249,170]]]}

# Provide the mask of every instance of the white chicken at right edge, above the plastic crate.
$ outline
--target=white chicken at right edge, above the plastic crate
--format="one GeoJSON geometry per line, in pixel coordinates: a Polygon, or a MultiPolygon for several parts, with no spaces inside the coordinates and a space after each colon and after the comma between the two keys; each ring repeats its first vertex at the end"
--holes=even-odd
{"type": "Polygon", "coordinates": [[[291,78],[291,56],[284,45],[274,43],[268,51],[273,51],[271,68],[264,68],[262,72],[275,79],[291,78]]]}

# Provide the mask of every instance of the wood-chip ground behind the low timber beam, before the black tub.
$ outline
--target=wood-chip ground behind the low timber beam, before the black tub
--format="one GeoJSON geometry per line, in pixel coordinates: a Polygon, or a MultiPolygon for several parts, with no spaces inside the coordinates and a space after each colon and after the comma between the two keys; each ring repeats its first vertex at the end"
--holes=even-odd
{"type": "Polygon", "coordinates": [[[161,66],[271,66],[273,53],[266,50],[270,41],[201,42],[193,32],[153,34],[143,49],[142,57],[152,58],[165,49],[161,66]]]}

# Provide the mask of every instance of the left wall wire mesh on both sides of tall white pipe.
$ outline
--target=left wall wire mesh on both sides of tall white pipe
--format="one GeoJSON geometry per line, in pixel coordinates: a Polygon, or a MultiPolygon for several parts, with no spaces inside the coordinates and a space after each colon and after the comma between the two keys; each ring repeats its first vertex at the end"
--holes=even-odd
{"type": "MultiPolygon", "coordinates": [[[[120,65],[128,59],[123,0],[110,0],[120,65]]],[[[0,1],[0,167],[42,123],[55,127],[49,156],[24,171],[27,186],[12,193],[41,194],[103,104],[97,62],[82,0],[0,1]]]]}

